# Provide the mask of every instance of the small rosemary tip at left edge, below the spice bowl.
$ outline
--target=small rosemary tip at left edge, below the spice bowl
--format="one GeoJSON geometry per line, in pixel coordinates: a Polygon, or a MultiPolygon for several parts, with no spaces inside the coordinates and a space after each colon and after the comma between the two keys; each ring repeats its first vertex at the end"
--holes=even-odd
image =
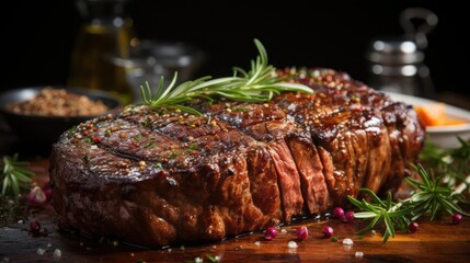
{"type": "Polygon", "coordinates": [[[25,167],[27,162],[22,162],[18,160],[18,153],[14,153],[12,157],[3,156],[2,161],[0,162],[0,169],[2,171],[1,175],[1,195],[13,194],[18,196],[22,188],[27,188],[28,183],[31,182],[31,176],[33,172],[28,171],[25,167]]]}

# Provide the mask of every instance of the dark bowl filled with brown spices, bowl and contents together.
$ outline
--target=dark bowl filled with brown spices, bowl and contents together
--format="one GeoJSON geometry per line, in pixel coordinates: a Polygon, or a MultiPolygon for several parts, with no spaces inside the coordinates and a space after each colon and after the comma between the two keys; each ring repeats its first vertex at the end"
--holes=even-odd
{"type": "Polygon", "coordinates": [[[48,155],[66,130],[121,108],[114,95],[89,89],[31,87],[0,94],[0,115],[15,137],[14,145],[28,153],[48,155]]]}

